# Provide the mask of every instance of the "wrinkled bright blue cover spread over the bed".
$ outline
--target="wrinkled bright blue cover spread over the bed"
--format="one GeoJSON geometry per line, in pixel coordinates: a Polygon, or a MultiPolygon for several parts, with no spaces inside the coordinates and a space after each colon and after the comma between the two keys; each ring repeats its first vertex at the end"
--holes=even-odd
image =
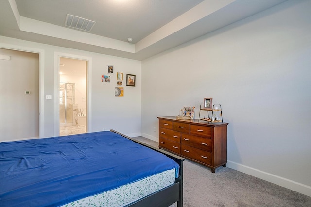
{"type": "Polygon", "coordinates": [[[60,206],[179,166],[110,131],[0,143],[0,206],[60,206]]]}

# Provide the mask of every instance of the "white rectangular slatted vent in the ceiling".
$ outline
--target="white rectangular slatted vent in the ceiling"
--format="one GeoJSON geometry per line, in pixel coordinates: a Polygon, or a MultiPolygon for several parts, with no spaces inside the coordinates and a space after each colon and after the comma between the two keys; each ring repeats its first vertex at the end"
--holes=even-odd
{"type": "Polygon", "coordinates": [[[95,23],[95,21],[67,14],[65,26],[89,32],[95,23]]]}

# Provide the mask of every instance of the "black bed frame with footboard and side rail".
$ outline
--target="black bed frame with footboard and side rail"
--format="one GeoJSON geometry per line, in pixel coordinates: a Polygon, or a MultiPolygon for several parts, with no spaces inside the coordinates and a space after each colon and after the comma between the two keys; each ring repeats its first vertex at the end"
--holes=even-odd
{"type": "Polygon", "coordinates": [[[149,147],[155,151],[158,151],[165,156],[175,160],[175,162],[179,165],[179,177],[175,179],[175,183],[161,189],[159,191],[156,191],[146,197],[143,197],[126,207],[168,207],[172,205],[173,203],[177,202],[177,207],[183,206],[183,161],[185,160],[182,157],[179,157],[177,155],[174,155],[170,152],[164,151],[162,149],[158,149],[156,147],[153,147],[149,144],[139,142],[138,140],[134,140],[124,134],[121,134],[120,132],[117,132],[115,130],[110,130],[114,133],[120,134],[121,136],[130,139],[136,143],[139,143],[141,145],[144,145],[146,147],[149,147]]]}

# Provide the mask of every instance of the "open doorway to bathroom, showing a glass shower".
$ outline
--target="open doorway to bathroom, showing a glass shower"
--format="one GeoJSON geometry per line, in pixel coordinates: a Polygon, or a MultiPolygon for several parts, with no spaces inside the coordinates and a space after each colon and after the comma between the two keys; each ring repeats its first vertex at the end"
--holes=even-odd
{"type": "Polygon", "coordinates": [[[87,132],[87,61],[59,58],[59,135],[87,132]]]}

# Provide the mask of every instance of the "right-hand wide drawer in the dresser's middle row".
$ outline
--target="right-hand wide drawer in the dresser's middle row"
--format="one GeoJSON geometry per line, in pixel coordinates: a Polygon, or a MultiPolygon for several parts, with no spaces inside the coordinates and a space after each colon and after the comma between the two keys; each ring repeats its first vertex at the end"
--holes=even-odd
{"type": "Polygon", "coordinates": [[[208,152],[212,151],[212,140],[206,137],[198,137],[190,134],[181,134],[181,144],[202,149],[208,152]]]}

